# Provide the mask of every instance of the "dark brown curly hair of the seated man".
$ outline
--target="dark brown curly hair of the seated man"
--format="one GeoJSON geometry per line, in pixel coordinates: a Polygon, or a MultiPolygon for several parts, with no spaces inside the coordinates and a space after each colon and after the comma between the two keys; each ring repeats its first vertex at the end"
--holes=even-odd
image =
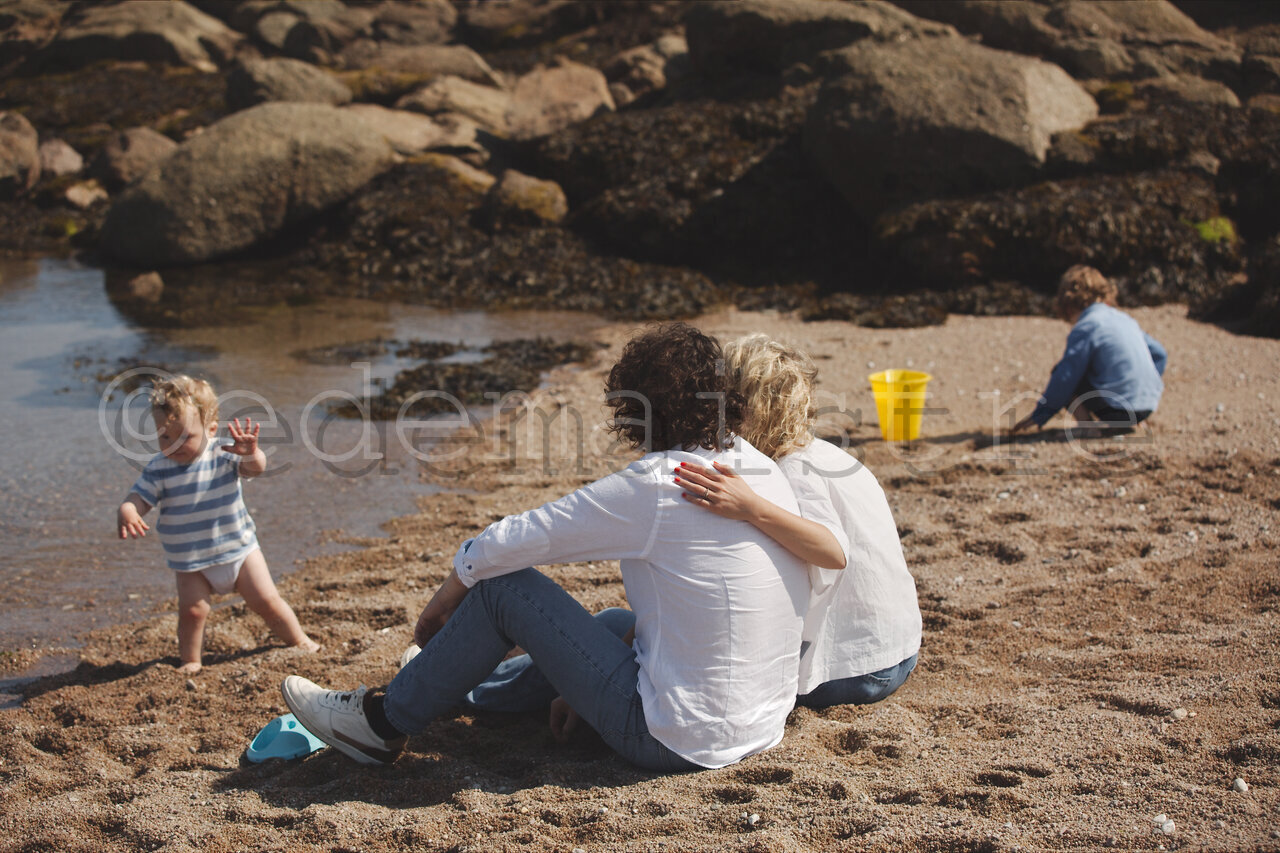
{"type": "Polygon", "coordinates": [[[627,342],[604,384],[609,432],[634,448],[723,450],[742,423],[716,338],[668,323],[627,342]]]}

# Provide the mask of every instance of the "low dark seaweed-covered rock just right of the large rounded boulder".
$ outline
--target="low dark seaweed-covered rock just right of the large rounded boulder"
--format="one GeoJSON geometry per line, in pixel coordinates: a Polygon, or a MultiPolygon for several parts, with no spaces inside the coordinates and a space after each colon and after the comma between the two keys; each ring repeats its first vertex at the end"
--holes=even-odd
{"type": "Polygon", "coordinates": [[[366,293],[456,309],[666,319],[724,301],[696,270],[617,257],[564,228],[488,231],[480,214],[493,181],[457,158],[415,158],[326,216],[293,265],[360,280],[366,293]]]}

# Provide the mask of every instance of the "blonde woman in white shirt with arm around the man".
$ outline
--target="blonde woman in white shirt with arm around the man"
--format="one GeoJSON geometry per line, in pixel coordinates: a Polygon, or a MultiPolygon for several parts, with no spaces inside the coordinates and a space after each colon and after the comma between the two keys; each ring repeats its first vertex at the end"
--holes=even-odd
{"type": "Polygon", "coordinates": [[[681,465],[685,500],[749,521],[809,564],[796,703],[878,702],[920,649],[920,607],[884,492],[865,465],[814,438],[818,370],[803,351],[753,334],[724,346],[730,386],[746,400],[739,428],[777,461],[799,512],[756,494],[732,466],[681,465]]]}

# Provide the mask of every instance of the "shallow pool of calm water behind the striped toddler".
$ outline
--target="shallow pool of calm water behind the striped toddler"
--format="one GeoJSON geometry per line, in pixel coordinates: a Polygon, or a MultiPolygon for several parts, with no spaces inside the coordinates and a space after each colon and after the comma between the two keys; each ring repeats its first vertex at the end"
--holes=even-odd
{"type": "Polygon", "coordinates": [[[357,366],[294,353],[394,338],[461,342],[465,357],[494,339],[581,336],[591,324],[580,314],[325,300],[246,310],[230,325],[142,329],[108,300],[100,270],[0,263],[0,649],[73,644],[173,596],[155,537],[114,537],[115,507],[154,452],[146,401],[119,387],[104,394],[99,377],[164,365],[209,379],[224,423],[264,421],[269,471],[244,498],[279,575],[333,548],[335,532],[380,535],[383,521],[430,492],[393,426],[326,415],[329,402],[410,362],[394,352],[357,366]]]}

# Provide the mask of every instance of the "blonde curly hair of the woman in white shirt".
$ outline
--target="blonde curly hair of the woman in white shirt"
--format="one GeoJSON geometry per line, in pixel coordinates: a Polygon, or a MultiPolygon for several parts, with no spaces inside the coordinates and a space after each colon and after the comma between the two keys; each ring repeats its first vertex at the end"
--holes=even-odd
{"type": "Polygon", "coordinates": [[[739,432],[758,451],[780,459],[813,439],[813,359],[767,334],[749,334],[724,345],[724,366],[730,386],[746,398],[739,432]]]}

